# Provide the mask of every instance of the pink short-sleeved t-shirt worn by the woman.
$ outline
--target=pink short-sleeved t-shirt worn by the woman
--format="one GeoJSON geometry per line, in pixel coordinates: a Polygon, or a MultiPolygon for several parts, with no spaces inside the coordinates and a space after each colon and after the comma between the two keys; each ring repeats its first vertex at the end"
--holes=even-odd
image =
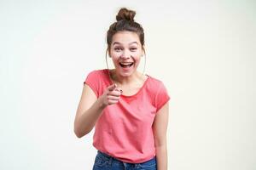
{"type": "MultiPolygon", "coordinates": [[[[97,98],[112,84],[107,69],[91,71],[84,83],[97,98]]],[[[137,94],[121,94],[119,103],[103,110],[95,126],[94,147],[120,161],[141,163],[150,160],[155,156],[154,116],[169,99],[164,84],[148,76],[137,94]]]]}

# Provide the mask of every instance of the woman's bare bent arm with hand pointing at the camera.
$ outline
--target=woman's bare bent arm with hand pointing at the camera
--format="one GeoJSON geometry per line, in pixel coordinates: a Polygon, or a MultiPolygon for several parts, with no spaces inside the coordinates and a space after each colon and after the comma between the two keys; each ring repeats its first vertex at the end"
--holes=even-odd
{"type": "Polygon", "coordinates": [[[119,95],[119,90],[116,89],[116,85],[113,84],[97,99],[93,90],[87,84],[84,84],[74,120],[74,133],[78,138],[90,133],[104,108],[117,103],[119,95]]]}

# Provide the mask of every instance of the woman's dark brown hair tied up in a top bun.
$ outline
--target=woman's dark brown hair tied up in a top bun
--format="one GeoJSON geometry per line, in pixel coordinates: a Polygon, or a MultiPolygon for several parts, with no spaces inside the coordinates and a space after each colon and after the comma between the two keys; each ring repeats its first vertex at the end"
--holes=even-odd
{"type": "MultiPolygon", "coordinates": [[[[134,16],[136,12],[133,10],[129,10],[127,8],[120,8],[119,13],[116,15],[116,22],[114,22],[111,26],[109,26],[107,33],[107,43],[108,48],[110,49],[110,45],[113,39],[113,35],[118,31],[133,31],[136,32],[140,42],[142,44],[142,48],[144,45],[144,30],[143,26],[134,21],[134,16]]],[[[145,52],[144,48],[143,51],[145,52]]],[[[109,51],[108,51],[109,52],[109,51]]],[[[106,52],[107,53],[107,52],[106,52]]]]}

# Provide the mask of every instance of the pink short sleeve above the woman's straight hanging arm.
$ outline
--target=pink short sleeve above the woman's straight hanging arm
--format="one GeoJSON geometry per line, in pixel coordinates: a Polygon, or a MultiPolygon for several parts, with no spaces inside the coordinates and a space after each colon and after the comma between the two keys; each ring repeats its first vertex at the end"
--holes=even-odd
{"type": "Polygon", "coordinates": [[[156,106],[156,112],[160,110],[160,108],[169,101],[170,96],[167,92],[167,89],[163,82],[160,82],[159,88],[157,90],[157,94],[155,95],[155,106],[156,106]]]}

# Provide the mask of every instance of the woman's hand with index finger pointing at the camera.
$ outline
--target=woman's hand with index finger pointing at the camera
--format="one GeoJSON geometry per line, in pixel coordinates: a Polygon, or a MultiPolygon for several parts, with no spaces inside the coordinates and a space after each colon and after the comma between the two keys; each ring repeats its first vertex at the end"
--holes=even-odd
{"type": "Polygon", "coordinates": [[[102,94],[102,105],[108,106],[113,105],[119,102],[119,98],[122,90],[117,88],[116,84],[112,84],[105,89],[105,92],[102,94]]]}

